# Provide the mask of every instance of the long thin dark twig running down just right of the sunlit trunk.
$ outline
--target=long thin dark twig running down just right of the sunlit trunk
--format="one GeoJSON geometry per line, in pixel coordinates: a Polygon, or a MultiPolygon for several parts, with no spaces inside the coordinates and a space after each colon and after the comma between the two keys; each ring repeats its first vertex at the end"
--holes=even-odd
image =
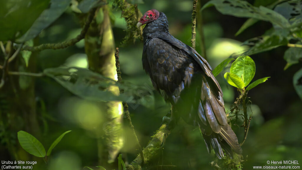
{"type": "MultiPolygon", "coordinates": [[[[122,81],[122,72],[120,71],[119,52],[120,51],[118,50],[118,47],[116,47],[116,52],[114,53],[114,57],[115,57],[115,66],[116,66],[116,72],[117,72],[117,82],[120,83],[122,81]]],[[[120,89],[120,93],[124,93],[124,90],[120,89]]],[[[130,128],[132,129],[132,135],[133,135],[134,139],[136,140],[137,145],[139,146],[140,157],[142,159],[142,162],[144,163],[145,157],[144,157],[143,149],[140,145],[140,142],[138,141],[137,135],[134,130],[134,126],[132,125],[130,113],[128,110],[128,104],[126,102],[123,102],[123,106],[124,106],[124,115],[128,121],[130,128]]]]}

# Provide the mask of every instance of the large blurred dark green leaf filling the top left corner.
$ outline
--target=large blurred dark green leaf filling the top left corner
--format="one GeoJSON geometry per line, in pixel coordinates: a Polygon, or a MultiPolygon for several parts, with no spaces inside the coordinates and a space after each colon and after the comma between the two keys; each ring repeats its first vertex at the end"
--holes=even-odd
{"type": "Polygon", "coordinates": [[[23,35],[48,4],[49,0],[1,0],[0,41],[23,35]]]}

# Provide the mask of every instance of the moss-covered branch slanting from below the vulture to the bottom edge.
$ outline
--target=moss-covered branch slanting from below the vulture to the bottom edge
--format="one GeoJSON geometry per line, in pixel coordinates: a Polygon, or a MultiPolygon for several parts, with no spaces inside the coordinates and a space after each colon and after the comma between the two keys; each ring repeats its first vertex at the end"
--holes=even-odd
{"type": "MultiPolygon", "coordinates": [[[[146,148],[143,149],[145,156],[145,162],[148,162],[149,159],[156,154],[156,151],[162,148],[165,144],[167,137],[170,135],[171,130],[168,129],[166,124],[160,126],[159,130],[153,136],[152,140],[148,143],[146,148]]],[[[127,170],[140,170],[142,159],[138,155],[129,165],[126,166],[127,170]]]]}

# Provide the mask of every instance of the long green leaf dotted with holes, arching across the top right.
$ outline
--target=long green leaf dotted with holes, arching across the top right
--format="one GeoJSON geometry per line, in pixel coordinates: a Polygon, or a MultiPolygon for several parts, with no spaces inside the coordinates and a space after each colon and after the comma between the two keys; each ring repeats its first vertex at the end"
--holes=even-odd
{"type": "Polygon", "coordinates": [[[263,6],[260,6],[259,8],[255,7],[248,2],[241,0],[211,0],[207,2],[201,10],[213,5],[219,12],[225,15],[269,21],[281,28],[288,28],[290,26],[288,20],[279,13],[263,6]]]}

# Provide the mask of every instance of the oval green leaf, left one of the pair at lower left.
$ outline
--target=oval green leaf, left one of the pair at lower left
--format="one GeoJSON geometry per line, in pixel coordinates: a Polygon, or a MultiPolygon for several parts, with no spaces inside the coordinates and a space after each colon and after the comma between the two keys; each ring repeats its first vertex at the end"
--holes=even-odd
{"type": "Polygon", "coordinates": [[[34,136],[31,134],[24,132],[24,131],[19,131],[18,132],[18,140],[21,145],[21,147],[31,155],[37,156],[37,157],[45,157],[46,152],[38,139],[36,139],[34,136]]]}

